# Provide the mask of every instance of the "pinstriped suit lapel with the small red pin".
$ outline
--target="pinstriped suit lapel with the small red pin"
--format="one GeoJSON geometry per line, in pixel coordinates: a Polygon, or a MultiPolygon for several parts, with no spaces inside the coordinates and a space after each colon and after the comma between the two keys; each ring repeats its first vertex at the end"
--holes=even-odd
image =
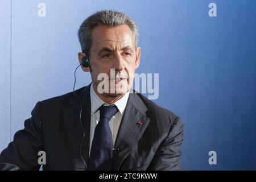
{"type": "Polygon", "coordinates": [[[147,107],[141,98],[133,92],[127,100],[125,113],[118,130],[113,153],[113,170],[119,170],[123,161],[129,156],[131,147],[137,144],[150,119],[146,117],[147,107]]]}

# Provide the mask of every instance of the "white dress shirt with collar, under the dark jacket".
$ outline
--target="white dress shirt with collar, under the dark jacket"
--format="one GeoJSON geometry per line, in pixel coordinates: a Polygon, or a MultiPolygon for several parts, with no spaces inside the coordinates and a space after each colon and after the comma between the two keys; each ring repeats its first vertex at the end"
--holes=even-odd
{"type": "MultiPolygon", "coordinates": [[[[113,144],[115,144],[115,139],[117,138],[118,129],[123,117],[123,111],[125,110],[127,100],[129,98],[130,91],[128,91],[122,98],[118,101],[114,102],[113,104],[117,106],[118,112],[110,119],[109,126],[112,132],[113,137],[113,144]]],[[[100,110],[98,108],[102,105],[107,105],[104,101],[97,96],[94,92],[93,85],[90,85],[90,148],[92,147],[92,140],[94,136],[94,130],[100,121],[100,110]]],[[[112,105],[113,105],[112,104],[112,105]]],[[[90,155],[90,148],[89,148],[89,155],[90,155]]]]}

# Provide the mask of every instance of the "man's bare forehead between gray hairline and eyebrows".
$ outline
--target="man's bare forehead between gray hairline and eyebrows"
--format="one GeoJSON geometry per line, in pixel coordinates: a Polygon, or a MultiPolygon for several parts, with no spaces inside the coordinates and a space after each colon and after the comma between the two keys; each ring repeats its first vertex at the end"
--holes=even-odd
{"type": "Polygon", "coordinates": [[[100,49],[101,46],[134,46],[134,36],[130,28],[123,24],[117,27],[97,26],[92,31],[92,47],[100,49]]]}

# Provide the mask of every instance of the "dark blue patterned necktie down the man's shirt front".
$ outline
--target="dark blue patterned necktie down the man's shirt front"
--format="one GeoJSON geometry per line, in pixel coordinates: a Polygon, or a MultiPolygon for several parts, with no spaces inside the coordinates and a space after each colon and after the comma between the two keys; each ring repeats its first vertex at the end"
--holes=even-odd
{"type": "Polygon", "coordinates": [[[113,138],[109,127],[109,120],[117,113],[117,106],[104,106],[100,108],[100,121],[98,122],[90,149],[88,170],[111,170],[113,155],[113,138]]]}

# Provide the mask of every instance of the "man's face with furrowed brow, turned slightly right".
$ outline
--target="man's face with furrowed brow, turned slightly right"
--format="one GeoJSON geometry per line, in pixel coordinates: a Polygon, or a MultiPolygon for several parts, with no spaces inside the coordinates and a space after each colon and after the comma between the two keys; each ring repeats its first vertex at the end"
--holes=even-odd
{"type": "Polygon", "coordinates": [[[126,24],[117,27],[97,26],[92,31],[90,49],[91,77],[94,86],[98,87],[101,82],[97,80],[98,75],[106,73],[109,78],[109,93],[104,94],[109,97],[125,94],[133,84],[134,72],[139,67],[140,56],[141,50],[139,47],[135,48],[133,33],[126,24]],[[110,77],[110,69],[112,69],[112,77],[110,77]],[[114,86],[114,93],[110,93],[110,86],[114,86]]]}

